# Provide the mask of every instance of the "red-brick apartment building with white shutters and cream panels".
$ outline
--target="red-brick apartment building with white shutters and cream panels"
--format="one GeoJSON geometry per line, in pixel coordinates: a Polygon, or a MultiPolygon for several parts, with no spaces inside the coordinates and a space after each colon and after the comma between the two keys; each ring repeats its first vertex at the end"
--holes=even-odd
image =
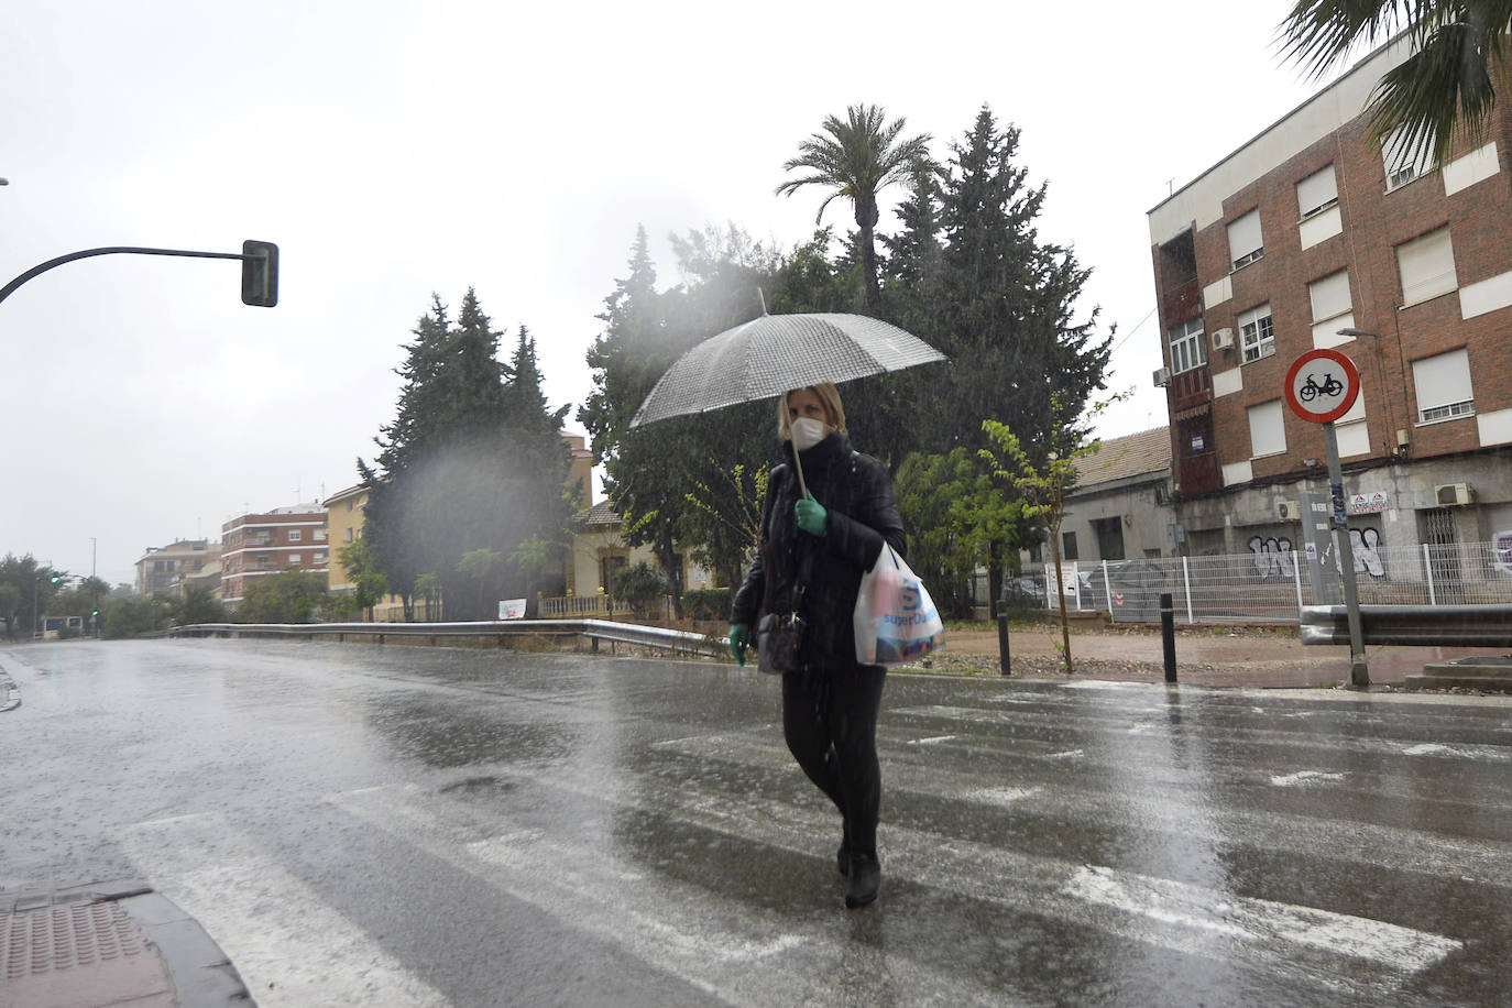
{"type": "Polygon", "coordinates": [[[1365,104],[1408,53],[1371,53],[1149,212],[1179,553],[1300,543],[1326,455],[1284,382],[1314,348],[1361,375],[1335,423],[1353,532],[1512,529],[1512,103],[1445,165],[1383,151],[1365,104]]]}

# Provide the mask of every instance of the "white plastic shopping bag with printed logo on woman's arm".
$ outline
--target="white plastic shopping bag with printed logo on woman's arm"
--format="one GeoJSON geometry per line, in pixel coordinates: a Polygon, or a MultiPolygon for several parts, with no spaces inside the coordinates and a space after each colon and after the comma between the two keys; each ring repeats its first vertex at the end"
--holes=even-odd
{"type": "Polygon", "coordinates": [[[924,582],[886,544],[860,579],[854,626],[862,665],[901,665],[945,647],[945,623],[924,582]]]}

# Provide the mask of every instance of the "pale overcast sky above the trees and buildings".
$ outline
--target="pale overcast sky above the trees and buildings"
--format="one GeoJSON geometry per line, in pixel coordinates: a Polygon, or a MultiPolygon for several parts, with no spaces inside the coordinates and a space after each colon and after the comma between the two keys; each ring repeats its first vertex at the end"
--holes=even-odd
{"type": "Polygon", "coordinates": [[[983,103],[1022,128],[1040,234],[1095,271],[1081,308],[1136,390],[1099,434],[1160,426],[1145,213],[1315,91],[1275,44],[1288,0],[516,6],[11,5],[0,283],[243,239],[280,245],[281,283],[249,308],[234,261],[109,255],[0,304],[0,555],[132,580],[148,547],[352,485],[432,292],[476,287],[505,351],[528,325],[576,407],[637,224],[664,286],[671,231],[794,246],[824,193],[773,195],[782,162],[857,101],[937,157],[983,103]]]}

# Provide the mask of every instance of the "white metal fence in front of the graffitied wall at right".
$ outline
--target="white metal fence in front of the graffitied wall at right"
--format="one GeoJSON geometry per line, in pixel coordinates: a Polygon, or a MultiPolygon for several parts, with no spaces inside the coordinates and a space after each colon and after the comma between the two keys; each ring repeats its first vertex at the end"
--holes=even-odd
{"type": "MultiPolygon", "coordinates": [[[[1492,543],[1352,546],[1362,604],[1512,604],[1512,552],[1492,543]]],[[[1158,621],[1161,592],[1170,592],[1181,623],[1296,623],[1303,606],[1338,601],[1317,597],[1305,564],[1305,556],[1290,550],[1083,561],[1066,562],[1061,580],[1067,609],[1107,612],[1114,623],[1158,621]]],[[[1337,556],[1332,570],[1337,582],[1337,556]]],[[[1057,608],[1052,567],[1025,573],[1016,583],[1018,597],[1057,608]]]]}

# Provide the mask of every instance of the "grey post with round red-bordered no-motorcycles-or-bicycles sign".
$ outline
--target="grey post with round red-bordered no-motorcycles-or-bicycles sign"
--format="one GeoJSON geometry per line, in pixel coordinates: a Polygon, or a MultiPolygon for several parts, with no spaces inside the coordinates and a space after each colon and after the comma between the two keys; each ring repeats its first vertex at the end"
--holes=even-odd
{"type": "Polygon", "coordinates": [[[1287,405],[1308,423],[1323,425],[1323,450],[1328,453],[1334,543],[1344,580],[1344,608],[1349,618],[1349,682],[1370,685],[1365,642],[1359,626],[1359,586],[1355,582],[1355,549],[1349,541],[1349,514],[1344,505],[1344,470],[1338,461],[1338,435],[1334,422],[1349,413],[1359,397],[1359,370],[1355,361],[1334,349],[1302,354],[1287,372],[1287,405]]]}

